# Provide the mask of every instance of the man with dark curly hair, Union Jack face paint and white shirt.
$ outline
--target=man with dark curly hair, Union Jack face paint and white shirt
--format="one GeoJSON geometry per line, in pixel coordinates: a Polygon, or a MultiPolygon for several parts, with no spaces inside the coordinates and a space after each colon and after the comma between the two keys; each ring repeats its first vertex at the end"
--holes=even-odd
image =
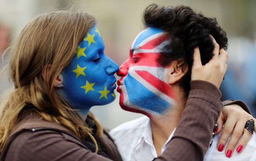
{"type": "MultiPolygon", "coordinates": [[[[207,100],[214,102],[212,99],[217,102],[221,95],[216,90],[219,88],[216,87],[218,83],[214,85],[206,81],[191,81],[195,74],[200,74],[192,72],[191,75],[192,65],[205,65],[205,69],[209,70],[208,62],[216,59],[224,62],[227,57],[224,50],[227,48],[226,33],[219,27],[216,19],[197,14],[190,7],[165,8],[150,5],[144,11],[144,24],[146,29],[133,41],[130,58],[117,73],[122,77],[118,80],[117,89],[120,92],[120,106],[127,111],[147,116],[126,122],[110,131],[123,159],[127,161],[151,161],[165,150],[165,145],[171,139],[183,137],[175,135],[175,130],[182,130],[186,134],[191,132],[182,127],[176,129],[181,121],[181,113],[191,97],[188,97],[189,92],[193,89],[205,92],[205,102],[196,102],[198,105],[207,103],[207,100]],[[214,55],[216,52],[220,53],[219,58],[214,55]],[[194,64],[193,55],[198,58],[194,64]]],[[[223,62],[221,64],[225,64],[223,62]]],[[[227,64],[220,68],[226,70],[227,64]]],[[[207,114],[202,113],[202,117],[205,116],[207,114]]],[[[190,121],[187,119],[185,122],[189,124],[190,121]]],[[[198,131],[196,135],[201,136],[202,133],[204,131],[198,131]]],[[[250,134],[246,129],[244,133],[250,134]]],[[[222,154],[224,151],[219,152],[223,150],[223,144],[219,143],[217,151],[218,138],[219,135],[213,138],[205,160],[226,158],[222,154]]],[[[255,160],[255,138],[253,135],[245,148],[237,150],[246,151],[243,155],[234,153],[234,158],[250,160],[254,157],[255,160]]],[[[193,141],[198,142],[196,139],[198,137],[193,141]]],[[[202,138],[202,144],[209,144],[204,139],[208,138],[202,138]]],[[[241,145],[243,140],[244,138],[240,141],[241,145]]],[[[226,156],[230,157],[232,151],[227,149],[226,156]]]]}

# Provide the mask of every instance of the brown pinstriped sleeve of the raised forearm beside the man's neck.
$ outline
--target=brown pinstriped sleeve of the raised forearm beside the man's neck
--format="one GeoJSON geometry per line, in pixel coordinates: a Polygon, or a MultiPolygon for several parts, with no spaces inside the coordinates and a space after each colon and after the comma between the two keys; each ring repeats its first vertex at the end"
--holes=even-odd
{"type": "Polygon", "coordinates": [[[191,81],[186,108],[166,150],[157,158],[199,161],[209,148],[215,122],[223,108],[217,87],[206,81],[191,81]],[[211,92],[211,93],[208,93],[211,92]]]}

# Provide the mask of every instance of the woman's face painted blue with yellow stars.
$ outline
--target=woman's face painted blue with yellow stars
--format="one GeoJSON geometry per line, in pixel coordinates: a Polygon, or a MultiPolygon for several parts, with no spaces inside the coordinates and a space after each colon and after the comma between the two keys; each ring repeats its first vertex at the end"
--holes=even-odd
{"type": "Polygon", "coordinates": [[[75,109],[87,112],[92,106],[115,100],[115,72],[118,66],[104,54],[104,42],[94,26],[79,43],[62,74],[63,96],[75,109]]]}

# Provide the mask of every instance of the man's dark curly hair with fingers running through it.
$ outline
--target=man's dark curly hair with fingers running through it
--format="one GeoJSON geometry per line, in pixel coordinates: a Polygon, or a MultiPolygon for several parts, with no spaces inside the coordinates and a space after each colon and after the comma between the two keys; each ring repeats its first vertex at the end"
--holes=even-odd
{"type": "Polygon", "coordinates": [[[151,4],[145,8],[143,18],[144,26],[162,29],[170,37],[158,59],[159,65],[167,66],[175,60],[184,60],[183,67],[188,65],[188,72],[179,82],[188,96],[194,47],[199,47],[204,65],[213,56],[214,45],[209,35],[214,37],[220,48],[226,50],[226,32],[216,18],[204,17],[189,6],[164,7],[151,4]]]}

